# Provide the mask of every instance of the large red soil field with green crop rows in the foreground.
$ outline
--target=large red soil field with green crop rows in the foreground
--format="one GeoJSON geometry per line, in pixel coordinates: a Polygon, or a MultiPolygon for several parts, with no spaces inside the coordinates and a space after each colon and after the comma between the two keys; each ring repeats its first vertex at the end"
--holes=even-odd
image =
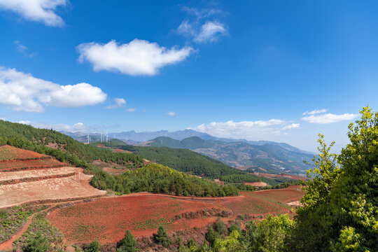
{"type": "Polygon", "coordinates": [[[228,218],[240,214],[262,216],[267,214],[288,214],[290,207],[276,202],[285,202],[303,193],[296,189],[265,190],[245,192],[235,197],[175,197],[136,193],[120,197],[103,197],[95,202],[76,204],[72,207],[56,209],[48,216],[50,223],[59,228],[69,243],[90,242],[94,239],[101,243],[119,241],[125,230],[133,235],[143,237],[152,235],[159,225],[167,230],[186,230],[202,227],[216,220],[214,213],[227,211],[228,218]],[[263,192],[266,192],[265,194],[263,192]],[[274,193],[276,196],[274,196],[274,193]],[[198,214],[208,209],[213,214],[198,214]],[[182,217],[186,214],[193,218],[182,217]],[[181,218],[175,216],[181,215],[181,218]]]}

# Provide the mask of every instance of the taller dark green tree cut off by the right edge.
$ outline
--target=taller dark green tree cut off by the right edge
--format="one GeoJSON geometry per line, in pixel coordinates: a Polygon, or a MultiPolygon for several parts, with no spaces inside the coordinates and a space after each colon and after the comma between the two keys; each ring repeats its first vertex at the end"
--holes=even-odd
{"type": "Polygon", "coordinates": [[[349,125],[343,174],[330,193],[325,221],[332,251],[378,251],[378,112],[364,107],[349,125]]]}

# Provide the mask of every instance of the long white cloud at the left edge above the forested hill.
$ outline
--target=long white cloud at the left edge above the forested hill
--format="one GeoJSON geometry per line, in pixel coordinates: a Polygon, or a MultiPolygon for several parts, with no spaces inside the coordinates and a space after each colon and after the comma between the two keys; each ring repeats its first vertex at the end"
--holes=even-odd
{"type": "Polygon", "coordinates": [[[43,112],[43,105],[78,107],[102,103],[106,94],[87,83],[58,85],[0,66],[0,104],[14,111],[43,112]]]}

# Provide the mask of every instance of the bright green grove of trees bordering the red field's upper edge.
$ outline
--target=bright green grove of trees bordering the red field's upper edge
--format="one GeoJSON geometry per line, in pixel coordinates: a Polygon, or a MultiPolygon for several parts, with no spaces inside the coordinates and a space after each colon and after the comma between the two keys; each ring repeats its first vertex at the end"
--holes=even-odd
{"type": "Polygon", "coordinates": [[[91,183],[96,188],[111,189],[118,193],[151,192],[197,197],[223,197],[237,195],[239,190],[254,190],[253,187],[244,184],[220,186],[157,164],[146,165],[118,176],[99,173],[91,183]]]}

